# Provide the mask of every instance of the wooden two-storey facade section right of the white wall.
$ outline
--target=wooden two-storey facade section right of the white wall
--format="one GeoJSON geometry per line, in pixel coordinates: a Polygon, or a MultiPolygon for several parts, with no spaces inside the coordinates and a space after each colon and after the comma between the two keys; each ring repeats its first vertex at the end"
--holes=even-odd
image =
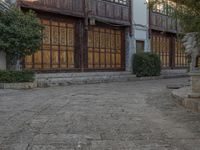
{"type": "Polygon", "coordinates": [[[184,52],[179,35],[181,27],[177,19],[172,17],[176,3],[165,0],[149,11],[149,37],[151,51],[158,54],[163,68],[186,68],[188,59],[184,52]]]}

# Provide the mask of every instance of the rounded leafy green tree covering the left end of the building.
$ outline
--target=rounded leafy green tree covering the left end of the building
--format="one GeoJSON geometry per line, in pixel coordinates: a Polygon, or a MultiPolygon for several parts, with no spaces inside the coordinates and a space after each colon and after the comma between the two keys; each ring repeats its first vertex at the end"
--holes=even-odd
{"type": "MultiPolygon", "coordinates": [[[[42,43],[43,26],[33,11],[11,8],[0,14],[0,50],[19,65],[20,60],[35,53],[42,43]]],[[[19,67],[19,66],[18,66],[19,67]]],[[[17,68],[18,68],[17,67],[17,68]]]]}

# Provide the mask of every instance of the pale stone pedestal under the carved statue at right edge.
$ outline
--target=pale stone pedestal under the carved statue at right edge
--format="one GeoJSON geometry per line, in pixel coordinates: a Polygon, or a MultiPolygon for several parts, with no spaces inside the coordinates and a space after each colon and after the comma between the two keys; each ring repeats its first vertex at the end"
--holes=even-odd
{"type": "Polygon", "coordinates": [[[191,85],[192,93],[189,94],[190,98],[200,98],[200,72],[192,72],[191,76],[191,85]]]}

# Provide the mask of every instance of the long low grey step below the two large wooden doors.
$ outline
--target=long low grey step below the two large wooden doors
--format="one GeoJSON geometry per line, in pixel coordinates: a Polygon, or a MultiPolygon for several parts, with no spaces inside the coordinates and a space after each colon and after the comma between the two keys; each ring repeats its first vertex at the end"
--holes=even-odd
{"type": "Polygon", "coordinates": [[[38,87],[124,82],[134,80],[136,80],[136,76],[132,75],[130,72],[53,73],[36,75],[38,87]]]}

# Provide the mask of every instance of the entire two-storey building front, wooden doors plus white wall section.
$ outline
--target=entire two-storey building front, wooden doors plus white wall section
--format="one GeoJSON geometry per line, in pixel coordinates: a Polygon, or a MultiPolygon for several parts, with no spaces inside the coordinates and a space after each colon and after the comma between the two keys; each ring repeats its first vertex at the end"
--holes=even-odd
{"type": "MultiPolygon", "coordinates": [[[[146,0],[18,0],[17,5],[34,10],[45,27],[42,48],[24,59],[25,69],[131,71],[133,54],[141,52],[158,54],[163,68],[187,67],[170,7],[149,10],[146,0]]],[[[0,57],[5,62],[5,55],[0,57]]]]}

